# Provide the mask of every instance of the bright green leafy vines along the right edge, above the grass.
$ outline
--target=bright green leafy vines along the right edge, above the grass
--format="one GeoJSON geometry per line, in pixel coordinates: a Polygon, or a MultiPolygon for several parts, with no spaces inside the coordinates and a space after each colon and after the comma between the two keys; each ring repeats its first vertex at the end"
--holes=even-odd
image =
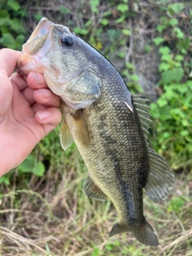
{"type": "MultiPolygon", "coordinates": [[[[166,10],[160,8],[162,15],[157,26],[158,36],[154,38],[155,45],[160,46],[159,86],[163,90],[158,101],[151,104],[151,114],[157,126],[154,147],[171,159],[174,168],[186,167],[192,157],[190,39],[183,27],[179,27],[178,20],[183,8],[184,5],[179,2],[169,4],[166,10]],[[163,46],[167,39],[164,31],[172,33],[170,40],[174,52],[170,46],[163,46]]],[[[191,14],[189,18],[192,18],[191,14]]]]}

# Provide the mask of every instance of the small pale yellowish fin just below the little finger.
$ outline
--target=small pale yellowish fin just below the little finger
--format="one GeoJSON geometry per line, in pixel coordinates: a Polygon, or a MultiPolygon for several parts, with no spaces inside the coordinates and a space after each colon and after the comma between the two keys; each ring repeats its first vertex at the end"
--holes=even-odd
{"type": "Polygon", "coordinates": [[[69,126],[67,126],[65,119],[62,121],[59,137],[63,150],[66,150],[74,142],[74,138],[70,132],[69,126]]]}

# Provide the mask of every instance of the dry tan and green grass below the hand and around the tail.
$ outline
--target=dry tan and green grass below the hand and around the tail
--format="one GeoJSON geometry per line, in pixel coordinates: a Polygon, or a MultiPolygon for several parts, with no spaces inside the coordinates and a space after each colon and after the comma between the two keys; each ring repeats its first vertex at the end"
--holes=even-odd
{"type": "Polygon", "coordinates": [[[144,196],[145,216],[158,234],[157,248],[142,245],[130,233],[108,238],[116,210],[110,202],[83,194],[86,166],[74,145],[62,151],[58,129],[33,152],[49,166],[46,174],[38,178],[14,170],[11,185],[2,185],[2,255],[191,255],[191,175],[176,174],[162,204],[144,196]]]}

